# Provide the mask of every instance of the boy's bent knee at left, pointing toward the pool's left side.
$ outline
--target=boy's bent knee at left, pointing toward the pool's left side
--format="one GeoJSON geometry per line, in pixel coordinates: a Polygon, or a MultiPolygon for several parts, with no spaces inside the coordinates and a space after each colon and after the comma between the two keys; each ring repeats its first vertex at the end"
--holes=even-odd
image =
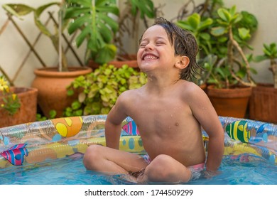
{"type": "Polygon", "coordinates": [[[87,151],[85,151],[85,155],[83,158],[85,168],[87,168],[88,170],[94,170],[97,161],[99,161],[99,158],[101,158],[102,147],[103,146],[99,145],[91,145],[87,148],[87,151]]]}

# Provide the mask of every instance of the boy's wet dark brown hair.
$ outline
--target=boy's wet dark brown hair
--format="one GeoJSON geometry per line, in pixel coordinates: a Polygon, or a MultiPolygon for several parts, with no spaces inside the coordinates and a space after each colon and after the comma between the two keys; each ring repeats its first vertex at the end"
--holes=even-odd
{"type": "Polygon", "coordinates": [[[197,73],[197,68],[200,68],[196,62],[199,48],[195,36],[162,17],[156,18],[154,25],[165,29],[171,45],[174,43],[175,55],[187,56],[190,59],[189,65],[180,71],[180,79],[192,80],[194,74],[197,73]]]}

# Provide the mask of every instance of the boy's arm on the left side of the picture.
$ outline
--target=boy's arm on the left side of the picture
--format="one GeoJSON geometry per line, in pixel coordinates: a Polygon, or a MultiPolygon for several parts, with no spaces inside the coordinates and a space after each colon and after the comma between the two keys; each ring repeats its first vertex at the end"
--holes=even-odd
{"type": "Polygon", "coordinates": [[[124,111],[124,97],[119,96],[114,107],[107,115],[105,122],[106,146],[119,149],[119,138],[121,134],[121,122],[127,117],[124,111]]]}

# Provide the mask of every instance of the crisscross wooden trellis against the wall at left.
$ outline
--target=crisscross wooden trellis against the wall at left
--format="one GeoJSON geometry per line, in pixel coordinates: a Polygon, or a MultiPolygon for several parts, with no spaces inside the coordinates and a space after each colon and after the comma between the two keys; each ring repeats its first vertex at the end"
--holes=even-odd
{"type": "MultiPolygon", "coordinates": [[[[31,53],[33,53],[36,58],[38,59],[39,63],[43,66],[46,67],[45,62],[43,61],[43,58],[40,57],[40,55],[38,54],[38,51],[35,49],[36,44],[38,43],[38,41],[40,40],[41,36],[43,33],[38,33],[38,35],[36,36],[36,39],[33,43],[31,43],[31,41],[28,40],[28,38],[26,37],[26,34],[23,33],[22,29],[18,26],[18,24],[16,23],[16,21],[13,20],[13,16],[11,16],[11,14],[7,13],[6,14],[8,16],[8,18],[6,19],[6,21],[4,22],[3,26],[1,26],[0,28],[0,36],[2,33],[4,33],[4,31],[6,30],[7,26],[9,26],[9,23],[12,23],[13,26],[16,28],[16,31],[18,31],[18,33],[22,36],[23,40],[27,43],[28,45],[28,53],[25,55],[25,57],[22,59],[18,69],[16,70],[15,74],[13,75],[13,77],[9,76],[7,74],[7,72],[4,70],[4,67],[1,65],[0,63],[0,72],[2,73],[2,75],[4,75],[6,77],[6,79],[9,81],[9,83],[13,86],[14,82],[16,81],[16,78],[18,77],[18,75],[20,74],[21,70],[23,70],[23,66],[25,65],[26,61],[28,60],[29,56],[31,55],[31,53]]],[[[53,23],[55,23],[56,26],[58,26],[58,22],[55,20],[53,13],[52,12],[48,12],[48,18],[45,21],[45,26],[48,25],[48,23],[50,21],[53,21],[53,23]]],[[[74,55],[74,57],[76,58],[77,62],[83,66],[84,64],[82,63],[82,60],[79,58],[79,56],[77,55],[76,51],[74,48],[72,48],[72,41],[75,39],[75,35],[73,35],[70,40],[65,36],[64,33],[62,33],[62,38],[63,41],[65,41],[66,46],[65,46],[65,54],[71,50],[72,54],[74,55]]]]}

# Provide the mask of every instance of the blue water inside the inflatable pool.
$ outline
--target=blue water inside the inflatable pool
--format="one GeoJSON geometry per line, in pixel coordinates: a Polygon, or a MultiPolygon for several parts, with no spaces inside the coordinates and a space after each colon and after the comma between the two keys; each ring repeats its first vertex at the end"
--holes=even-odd
{"type": "MultiPolygon", "coordinates": [[[[201,177],[191,185],[276,185],[277,166],[259,156],[224,156],[219,175],[201,177]],[[246,157],[246,158],[245,158],[246,157]]],[[[0,173],[1,185],[112,185],[132,184],[121,176],[86,171],[82,156],[63,158],[40,166],[6,168],[0,173]]]]}

